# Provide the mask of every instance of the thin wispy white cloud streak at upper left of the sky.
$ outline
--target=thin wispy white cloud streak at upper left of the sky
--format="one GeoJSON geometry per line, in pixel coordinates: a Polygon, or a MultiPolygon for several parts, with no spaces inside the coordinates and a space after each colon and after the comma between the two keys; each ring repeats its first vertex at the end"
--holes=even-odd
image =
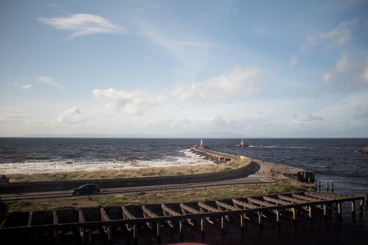
{"type": "Polygon", "coordinates": [[[72,31],[67,39],[94,33],[126,33],[123,26],[118,26],[94,14],[72,14],[68,17],[38,18],[37,20],[58,30],[72,31]]]}

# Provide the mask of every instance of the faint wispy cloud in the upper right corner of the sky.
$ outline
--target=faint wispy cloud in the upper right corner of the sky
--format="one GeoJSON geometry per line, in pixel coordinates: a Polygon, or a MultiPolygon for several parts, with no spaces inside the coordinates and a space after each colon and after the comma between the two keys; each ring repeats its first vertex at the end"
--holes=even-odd
{"type": "Polygon", "coordinates": [[[356,26],[357,23],[358,19],[355,18],[351,21],[340,22],[336,28],[328,32],[321,32],[318,35],[307,35],[305,42],[301,44],[300,49],[306,51],[318,45],[325,45],[322,50],[328,50],[334,47],[343,46],[353,39],[351,28],[356,26]]]}

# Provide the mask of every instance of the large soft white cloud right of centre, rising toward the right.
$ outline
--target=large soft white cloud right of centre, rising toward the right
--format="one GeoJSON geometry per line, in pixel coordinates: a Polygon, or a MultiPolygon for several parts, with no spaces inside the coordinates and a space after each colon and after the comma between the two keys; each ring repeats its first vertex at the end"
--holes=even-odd
{"type": "Polygon", "coordinates": [[[238,93],[257,93],[263,71],[258,67],[237,65],[230,72],[204,81],[176,83],[170,94],[178,100],[228,100],[238,93]]]}

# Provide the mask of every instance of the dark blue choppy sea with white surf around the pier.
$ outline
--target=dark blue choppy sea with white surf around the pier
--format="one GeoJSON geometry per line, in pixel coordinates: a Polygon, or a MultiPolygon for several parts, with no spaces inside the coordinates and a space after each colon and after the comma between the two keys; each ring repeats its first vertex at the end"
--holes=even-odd
{"type": "MultiPolygon", "coordinates": [[[[364,195],[368,192],[368,155],[356,152],[368,146],[368,138],[282,138],[244,139],[249,147],[236,147],[241,139],[203,139],[210,149],[231,154],[251,155],[302,164],[313,168],[321,180],[334,182],[335,193],[364,195]]],[[[0,138],[0,174],[93,171],[164,166],[215,164],[189,152],[200,139],[126,139],[126,138],[0,138]]],[[[330,187],[331,188],[331,187],[330,187]]],[[[319,191],[319,188],[317,189],[319,191]]],[[[329,189],[331,191],[331,189],[329,189]]],[[[355,203],[356,209],[358,202],[355,203]]],[[[281,217],[278,227],[272,215],[260,230],[256,220],[246,222],[244,234],[238,220],[229,223],[225,235],[220,224],[184,227],[184,242],[204,244],[368,244],[368,208],[363,216],[351,214],[351,204],[342,205],[343,215],[329,212],[325,219],[314,212],[309,220],[297,216],[295,224],[289,214],[281,217]]],[[[113,244],[133,244],[123,231],[114,234],[113,244]]],[[[138,244],[159,244],[154,232],[141,228],[138,244]]],[[[162,228],[161,244],[181,242],[178,229],[162,228]]],[[[73,243],[73,242],[71,242],[73,243]]],[[[102,238],[94,243],[105,244],[102,238]]]]}

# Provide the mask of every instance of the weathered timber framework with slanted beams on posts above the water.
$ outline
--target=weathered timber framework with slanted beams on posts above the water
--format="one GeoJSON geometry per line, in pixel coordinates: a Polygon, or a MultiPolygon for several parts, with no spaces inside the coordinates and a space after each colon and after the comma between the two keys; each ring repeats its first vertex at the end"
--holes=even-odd
{"type": "Polygon", "coordinates": [[[290,220],[297,220],[297,215],[307,214],[310,219],[314,211],[326,217],[327,210],[333,209],[341,216],[343,202],[351,202],[351,212],[355,213],[355,202],[359,202],[359,213],[362,215],[365,196],[326,193],[326,192],[295,192],[279,195],[253,196],[248,198],[212,200],[191,203],[164,203],[158,205],[132,205],[103,208],[48,210],[23,213],[4,213],[0,215],[1,239],[12,237],[29,237],[35,234],[48,234],[59,244],[60,235],[73,232],[83,244],[91,242],[91,232],[98,230],[106,239],[112,241],[113,232],[123,227],[138,238],[139,227],[154,229],[158,237],[162,228],[178,228],[183,234],[183,226],[205,227],[221,222],[225,231],[226,222],[231,216],[240,216],[240,230],[244,232],[247,220],[258,220],[263,227],[263,218],[269,213],[276,215],[276,223],[280,224],[280,215],[289,212],[290,220]],[[198,220],[198,222],[196,221],[198,220]]]}

